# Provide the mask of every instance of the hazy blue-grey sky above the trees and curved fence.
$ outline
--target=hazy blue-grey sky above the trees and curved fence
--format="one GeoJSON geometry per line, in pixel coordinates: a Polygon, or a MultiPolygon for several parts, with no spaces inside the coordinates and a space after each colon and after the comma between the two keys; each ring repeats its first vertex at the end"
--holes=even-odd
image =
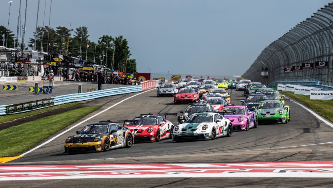
{"type": "MultiPolygon", "coordinates": [[[[5,27],[9,1],[0,0],[5,27]]],[[[16,33],[20,0],[12,1],[9,29],[16,33]]],[[[267,45],[328,3],[332,0],[53,0],[50,26],[86,26],[95,42],[108,31],[123,35],[138,72],[232,76],[242,75],[267,45]]],[[[37,4],[28,0],[26,41],[36,28],[37,4]]],[[[40,0],[39,26],[44,7],[40,0]]]]}

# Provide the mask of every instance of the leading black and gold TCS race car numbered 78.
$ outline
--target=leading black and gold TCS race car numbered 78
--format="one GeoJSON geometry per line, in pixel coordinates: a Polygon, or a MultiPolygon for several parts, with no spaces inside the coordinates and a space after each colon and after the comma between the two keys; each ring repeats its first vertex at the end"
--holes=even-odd
{"type": "Polygon", "coordinates": [[[108,151],[119,147],[131,147],[134,135],[125,127],[116,124],[119,121],[100,121],[86,125],[76,135],[65,141],[65,153],[108,151]]]}

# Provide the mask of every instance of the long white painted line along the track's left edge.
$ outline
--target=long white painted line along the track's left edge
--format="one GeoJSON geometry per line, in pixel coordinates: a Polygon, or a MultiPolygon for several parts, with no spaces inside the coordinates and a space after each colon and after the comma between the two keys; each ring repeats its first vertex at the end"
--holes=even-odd
{"type": "Polygon", "coordinates": [[[100,114],[103,113],[103,112],[106,112],[106,111],[110,110],[111,108],[117,106],[118,104],[120,104],[120,103],[122,103],[122,102],[124,102],[124,101],[126,101],[126,100],[128,100],[128,99],[130,99],[130,98],[133,98],[133,97],[135,97],[135,96],[138,96],[138,95],[140,95],[140,94],[142,94],[142,93],[146,93],[146,92],[148,92],[148,91],[152,91],[152,90],[154,90],[154,89],[156,89],[156,88],[153,88],[153,89],[150,89],[150,90],[147,90],[147,91],[144,91],[144,92],[141,92],[141,93],[135,94],[135,95],[133,95],[133,96],[131,96],[131,97],[128,97],[128,98],[126,98],[126,99],[124,99],[124,100],[122,100],[122,101],[120,101],[120,102],[118,102],[118,103],[116,103],[116,104],[110,106],[109,108],[107,108],[107,109],[105,109],[105,110],[103,110],[103,111],[101,111],[101,112],[99,112],[99,113],[97,113],[97,114],[95,114],[95,115],[93,115],[93,116],[91,116],[91,117],[89,117],[89,118],[87,118],[87,119],[81,121],[80,123],[78,123],[78,124],[72,126],[71,128],[67,129],[66,131],[64,131],[64,132],[62,132],[62,133],[59,133],[58,135],[52,137],[52,138],[49,139],[48,141],[42,143],[41,145],[38,145],[38,146],[34,147],[33,149],[31,149],[31,150],[29,150],[29,151],[27,151],[27,152],[25,152],[25,153],[23,153],[23,154],[21,154],[21,155],[19,155],[19,156],[24,156],[24,155],[26,155],[26,154],[28,154],[28,153],[30,153],[30,152],[32,152],[32,151],[34,151],[34,150],[36,150],[36,149],[42,147],[42,146],[44,146],[45,144],[50,143],[50,142],[53,141],[54,139],[56,139],[56,138],[58,138],[59,136],[61,136],[61,135],[65,134],[65,133],[67,133],[68,131],[74,129],[75,127],[81,125],[82,123],[84,123],[84,122],[86,122],[86,121],[88,121],[88,120],[90,120],[90,119],[92,119],[92,118],[94,118],[94,117],[100,115],[100,114]]]}

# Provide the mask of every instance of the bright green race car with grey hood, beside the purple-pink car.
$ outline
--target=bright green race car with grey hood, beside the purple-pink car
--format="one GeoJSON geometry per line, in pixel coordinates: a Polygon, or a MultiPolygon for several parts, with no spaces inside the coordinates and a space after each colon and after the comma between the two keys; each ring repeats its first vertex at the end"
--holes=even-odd
{"type": "Polygon", "coordinates": [[[259,123],[288,123],[290,121],[289,106],[284,106],[281,100],[260,101],[254,113],[258,115],[259,123]]]}

